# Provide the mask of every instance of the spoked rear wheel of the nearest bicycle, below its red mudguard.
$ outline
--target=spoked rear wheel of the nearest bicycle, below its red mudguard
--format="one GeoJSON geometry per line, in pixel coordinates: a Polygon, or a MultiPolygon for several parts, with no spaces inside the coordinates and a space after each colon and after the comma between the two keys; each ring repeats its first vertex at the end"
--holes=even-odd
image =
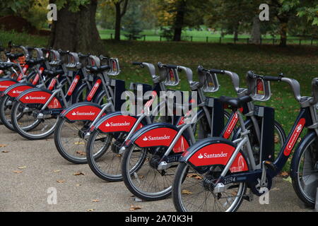
{"type": "Polygon", "coordinates": [[[213,193],[213,181],[218,179],[220,167],[199,174],[187,163],[177,168],[172,184],[172,200],[180,212],[233,212],[240,207],[247,186],[245,183],[227,184],[225,191],[213,193]]]}

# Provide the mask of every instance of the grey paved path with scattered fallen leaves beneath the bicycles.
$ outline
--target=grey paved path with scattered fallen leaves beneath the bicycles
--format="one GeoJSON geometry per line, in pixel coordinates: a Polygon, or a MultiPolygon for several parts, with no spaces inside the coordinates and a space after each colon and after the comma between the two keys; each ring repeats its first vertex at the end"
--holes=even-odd
{"type": "MultiPolygon", "coordinates": [[[[0,211],[130,211],[131,205],[141,207],[136,211],[175,211],[171,198],[136,202],[123,182],[103,182],[88,165],[70,164],[52,138],[27,141],[2,125],[0,133],[0,146],[6,145],[0,148],[0,211]],[[50,187],[57,189],[57,205],[47,203],[50,187]]],[[[260,205],[255,197],[240,210],[312,211],[302,205],[290,182],[276,179],[273,188],[269,205],[260,205]]]]}

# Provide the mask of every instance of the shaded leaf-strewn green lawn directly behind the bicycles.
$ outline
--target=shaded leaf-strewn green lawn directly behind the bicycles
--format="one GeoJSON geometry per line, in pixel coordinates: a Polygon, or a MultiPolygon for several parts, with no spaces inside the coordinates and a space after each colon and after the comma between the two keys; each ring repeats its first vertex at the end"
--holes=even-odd
{"type": "MultiPolygon", "coordinates": [[[[8,40],[18,44],[46,46],[47,37],[35,37],[24,34],[0,32],[0,41],[8,40]]],[[[311,95],[312,78],[318,77],[318,47],[292,45],[281,48],[273,45],[250,44],[218,44],[204,42],[113,42],[105,40],[105,52],[119,59],[122,69],[117,78],[130,82],[151,84],[148,71],[131,65],[132,61],[146,61],[156,64],[177,64],[190,67],[194,71],[202,65],[206,68],[226,69],[240,75],[242,88],[246,87],[245,73],[249,70],[267,76],[285,76],[295,78],[300,82],[302,95],[311,95]]],[[[181,83],[175,87],[179,90],[188,90],[189,85],[184,74],[180,74],[181,83]]],[[[213,96],[236,96],[230,79],[218,76],[220,90],[213,96]]],[[[261,103],[274,107],[276,120],[279,121],[288,133],[298,114],[299,104],[293,97],[289,86],[285,83],[271,83],[271,100],[261,103]]],[[[284,169],[288,170],[289,165],[284,169]]]]}

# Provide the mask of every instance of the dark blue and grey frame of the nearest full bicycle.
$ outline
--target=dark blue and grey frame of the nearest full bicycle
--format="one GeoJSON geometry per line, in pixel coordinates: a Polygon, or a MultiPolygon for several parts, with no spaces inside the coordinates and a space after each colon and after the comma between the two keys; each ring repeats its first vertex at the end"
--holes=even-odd
{"type": "MultiPolygon", "coordinates": [[[[315,108],[315,103],[317,102],[317,100],[315,99],[317,97],[300,97],[300,88],[297,81],[290,78],[282,78],[281,81],[285,81],[291,85],[294,91],[295,98],[296,100],[298,100],[298,102],[300,102],[301,108],[298,117],[295,119],[295,123],[293,124],[293,127],[288,134],[288,138],[281,148],[280,153],[278,154],[278,157],[274,162],[262,162],[262,167],[257,168],[254,164],[254,157],[252,155],[252,149],[250,148],[249,138],[247,136],[249,131],[244,131],[245,125],[242,124],[242,121],[240,120],[242,128],[242,138],[233,141],[234,143],[237,143],[237,147],[230,157],[230,160],[228,160],[227,164],[225,165],[223,172],[220,174],[218,184],[216,185],[217,189],[214,192],[222,191],[224,185],[230,184],[232,182],[247,182],[254,194],[257,194],[258,196],[261,195],[254,189],[254,186],[258,183],[257,179],[261,179],[261,186],[264,186],[263,183],[265,182],[265,180],[267,180],[267,183],[269,184],[267,188],[271,188],[271,180],[273,179],[273,177],[276,177],[279,172],[281,172],[281,169],[283,169],[283,166],[287,162],[288,157],[290,157],[291,151],[293,150],[295,143],[297,143],[303,129],[307,127],[307,129],[314,130],[314,132],[318,136],[317,113],[315,108]],[[237,174],[230,174],[228,176],[225,176],[228,173],[230,165],[232,165],[232,160],[237,157],[237,154],[240,152],[243,145],[247,145],[249,170],[247,172],[240,172],[237,174]]],[[[239,118],[242,118],[242,114],[240,112],[237,112],[237,114],[239,114],[239,118]]]]}

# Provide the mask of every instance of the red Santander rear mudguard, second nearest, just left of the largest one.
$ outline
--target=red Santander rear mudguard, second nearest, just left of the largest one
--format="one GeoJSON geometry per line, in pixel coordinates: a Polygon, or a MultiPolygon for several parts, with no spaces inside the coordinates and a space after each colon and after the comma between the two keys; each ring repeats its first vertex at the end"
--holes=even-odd
{"type": "MultiPolygon", "coordinates": [[[[131,137],[131,141],[126,144],[134,143],[139,146],[139,148],[150,148],[157,146],[166,146],[169,147],[177,135],[179,129],[177,126],[167,123],[155,123],[144,126],[143,128],[136,131],[131,137]]],[[[187,133],[184,133],[180,136],[179,140],[175,144],[175,147],[172,149],[175,153],[184,152],[189,148],[189,139],[187,133]]]]}

